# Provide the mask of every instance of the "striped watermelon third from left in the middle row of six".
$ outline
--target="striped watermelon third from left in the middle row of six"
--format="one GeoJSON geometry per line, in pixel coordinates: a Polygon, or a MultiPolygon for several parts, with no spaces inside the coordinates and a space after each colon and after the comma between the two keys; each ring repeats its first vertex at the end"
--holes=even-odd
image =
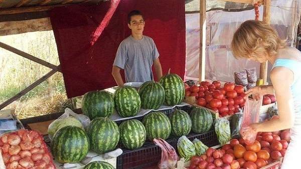
{"type": "Polygon", "coordinates": [[[139,120],[127,120],[120,124],[120,140],[125,148],[140,148],[146,138],[144,125],[139,120]]]}

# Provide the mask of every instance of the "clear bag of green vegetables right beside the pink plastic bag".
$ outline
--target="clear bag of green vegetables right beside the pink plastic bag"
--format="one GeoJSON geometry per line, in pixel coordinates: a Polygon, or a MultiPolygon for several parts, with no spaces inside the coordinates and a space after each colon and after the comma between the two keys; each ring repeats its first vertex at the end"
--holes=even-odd
{"type": "Polygon", "coordinates": [[[196,155],[194,144],[185,135],[179,138],[177,147],[180,156],[185,158],[185,161],[189,161],[192,156],[196,155]]]}

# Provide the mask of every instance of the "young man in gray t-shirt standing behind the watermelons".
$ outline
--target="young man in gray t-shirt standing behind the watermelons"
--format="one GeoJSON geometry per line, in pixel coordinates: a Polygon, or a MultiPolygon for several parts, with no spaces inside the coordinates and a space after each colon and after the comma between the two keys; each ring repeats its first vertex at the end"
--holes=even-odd
{"type": "Polygon", "coordinates": [[[118,86],[123,86],[120,69],[124,69],[126,82],[145,82],[154,80],[152,65],[154,64],[158,80],[162,77],[159,52],[152,38],[143,36],[145,22],[139,11],[128,14],[128,28],[131,36],[119,45],[113,63],[112,75],[118,86]]]}

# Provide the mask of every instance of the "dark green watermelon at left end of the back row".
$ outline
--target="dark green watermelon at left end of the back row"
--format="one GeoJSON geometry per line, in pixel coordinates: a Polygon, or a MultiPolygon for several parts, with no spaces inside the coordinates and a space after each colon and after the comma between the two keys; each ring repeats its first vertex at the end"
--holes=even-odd
{"type": "Polygon", "coordinates": [[[90,120],[96,117],[109,117],[114,108],[113,96],[106,91],[91,91],[82,98],[82,111],[90,120]]]}

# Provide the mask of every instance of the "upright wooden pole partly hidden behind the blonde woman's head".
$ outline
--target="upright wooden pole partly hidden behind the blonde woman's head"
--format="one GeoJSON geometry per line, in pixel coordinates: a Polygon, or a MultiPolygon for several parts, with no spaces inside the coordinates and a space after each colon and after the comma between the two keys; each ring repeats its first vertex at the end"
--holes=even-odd
{"type": "MultiPolygon", "coordinates": [[[[271,19],[271,0],[264,0],[263,2],[263,22],[270,24],[271,19]]],[[[263,84],[267,84],[267,61],[260,64],[260,78],[263,79],[263,84]]]]}

